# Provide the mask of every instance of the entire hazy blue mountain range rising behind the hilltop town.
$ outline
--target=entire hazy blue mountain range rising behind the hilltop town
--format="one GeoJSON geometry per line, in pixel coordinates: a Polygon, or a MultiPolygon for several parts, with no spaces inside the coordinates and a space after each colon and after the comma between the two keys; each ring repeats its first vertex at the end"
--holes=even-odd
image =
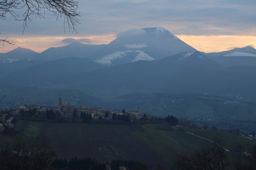
{"type": "Polygon", "coordinates": [[[0,95],[41,104],[50,97],[49,104],[68,91],[70,103],[106,107],[114,106],[114,98],[133,93],[256,96],[255,74],[253,47],[206,54],[169,30],[143,28],[119,33],[108,45],[75,42],[41,53],[19,47],[0,54],[0,95]]]}

